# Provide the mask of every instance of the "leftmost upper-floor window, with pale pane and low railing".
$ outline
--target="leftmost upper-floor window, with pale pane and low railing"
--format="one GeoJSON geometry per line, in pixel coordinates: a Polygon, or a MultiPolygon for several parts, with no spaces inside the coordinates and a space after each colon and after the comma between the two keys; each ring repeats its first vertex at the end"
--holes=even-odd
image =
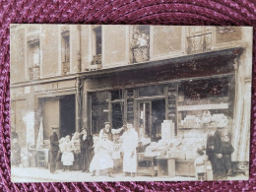
{"type": "Polygon", "coordinates": [[[29,42],[30,79],[40,78],[40,45],[39,40],[29,42]]]}

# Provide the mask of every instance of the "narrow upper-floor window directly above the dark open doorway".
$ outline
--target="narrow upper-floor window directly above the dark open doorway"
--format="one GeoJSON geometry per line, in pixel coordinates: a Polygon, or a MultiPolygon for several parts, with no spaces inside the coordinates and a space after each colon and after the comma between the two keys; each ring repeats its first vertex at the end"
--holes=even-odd
{"type": "Polygon", "coordinates": [[[70,73],[70,35],[69,31],[62,32],[62,73],[64,75],[70,73]]]}

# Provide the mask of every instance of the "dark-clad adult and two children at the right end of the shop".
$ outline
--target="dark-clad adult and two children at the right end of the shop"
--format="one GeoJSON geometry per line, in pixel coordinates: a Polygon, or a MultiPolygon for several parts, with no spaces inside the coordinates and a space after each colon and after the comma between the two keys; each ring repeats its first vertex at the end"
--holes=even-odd
{"type": "MultiPolygon", "coordinates": [[[[214,134],[209,134],[206,145],[206,155],[211,161],[214,180],[226,179],[231,176],[231,154],[234,149],[230,142],[230,135],[224,134],[223,128],[217,128],[214,134]]],[[[206,180],[206,159],[202,149],[197,150],[195,160],[196,176],[198,180],[206,180]]]]}

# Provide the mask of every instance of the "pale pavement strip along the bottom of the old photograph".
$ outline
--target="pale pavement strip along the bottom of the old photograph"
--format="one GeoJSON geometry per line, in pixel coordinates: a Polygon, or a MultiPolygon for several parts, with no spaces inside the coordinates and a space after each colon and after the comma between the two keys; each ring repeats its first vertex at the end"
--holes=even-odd
{"type": "MultiPolygon", "coordinates": [[[[92,176],[91,173],[78,170],[64,172],[57,170],[56,173],[50,173],[46,168],[38,167],[12,167],[12,182],[92,182],[92,181],[195,181],[195,177],[184,176],[124,176],[122,173],[114,174],[113,177],[108,176],[92,176]]],[[[228,177],[226,180],[247,180],[248,177],[243,174],[235,177],[228,177]]]]}

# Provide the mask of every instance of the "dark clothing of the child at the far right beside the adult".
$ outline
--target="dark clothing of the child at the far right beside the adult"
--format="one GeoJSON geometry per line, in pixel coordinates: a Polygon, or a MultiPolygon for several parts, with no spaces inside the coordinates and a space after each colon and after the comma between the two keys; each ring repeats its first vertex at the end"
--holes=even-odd
{"type": "Polygon", "coordinates": [[[224,170],[225,174],[231,169],[231,154],[233,153],[233,147],[230,142],[223,142],[221,146],[221,154],[224,159],[224,170]]]}

